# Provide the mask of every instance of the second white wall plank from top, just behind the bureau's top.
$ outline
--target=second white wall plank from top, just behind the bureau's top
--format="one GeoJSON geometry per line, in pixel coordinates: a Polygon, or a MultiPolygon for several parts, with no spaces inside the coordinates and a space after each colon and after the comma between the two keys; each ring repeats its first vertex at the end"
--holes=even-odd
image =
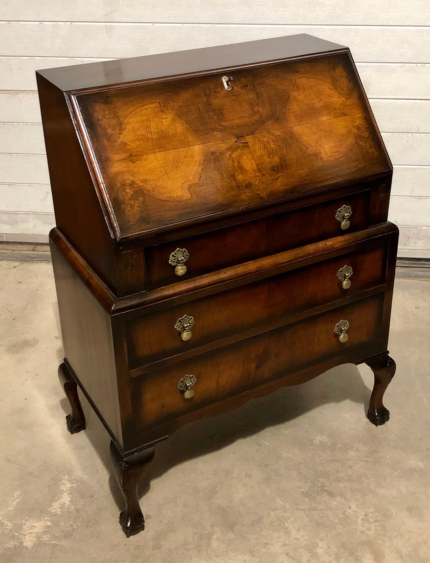
{"type": "Polygon", "coordinates": [[[296,33],[348,45],[360,62],[430,61],[430,28],[401,26],[208,25],[0,22],[5,56],[136,57],[296,33]],[[17,41],[25,38],[25,41],[17,41]]]}

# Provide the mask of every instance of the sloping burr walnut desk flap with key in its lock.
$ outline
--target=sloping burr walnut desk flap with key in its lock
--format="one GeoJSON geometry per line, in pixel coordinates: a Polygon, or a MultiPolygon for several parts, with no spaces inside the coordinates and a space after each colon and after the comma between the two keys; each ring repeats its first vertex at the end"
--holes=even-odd
{"type": "Polygon", "coordinates": [[[119,236],[391,168],[348,52],[73,94],[119,236]]]}

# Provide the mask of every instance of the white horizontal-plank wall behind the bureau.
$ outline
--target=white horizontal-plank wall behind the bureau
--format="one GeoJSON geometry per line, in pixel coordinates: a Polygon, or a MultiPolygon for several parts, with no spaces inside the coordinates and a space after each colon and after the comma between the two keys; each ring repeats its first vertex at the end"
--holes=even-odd
{"type": "Polygon", "coordinates": [[[389,218],[430,256],[428,0],[77,0],[0,6],[0,240],[54,224],[34,71],[310,33],[351,48],[395,165],[389,218]]]}

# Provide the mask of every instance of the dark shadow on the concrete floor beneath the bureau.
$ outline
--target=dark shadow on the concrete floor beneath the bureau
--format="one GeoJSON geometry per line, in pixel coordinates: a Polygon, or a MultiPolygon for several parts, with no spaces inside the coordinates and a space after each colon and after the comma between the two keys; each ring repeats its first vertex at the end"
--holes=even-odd
{"type": "MultiPolygon", "coordinates": [[[[104,463],[109,473],[111,494],[119,510],[123,510],[124,500],[109,455],[110,437],[86,398],[82,394],[80,397],[87,420],[85,434],[104,463]]],[[[192,422],[156,446],[154,461],[142,476],[139,497],[147,493],[151,479],[189,459],[225,448],[267,427],[288,423],[324,404],[354,401],[364,405],[365,416],[369,398],[370,389],[364,384],[357,367],[343,364],[302,385],[280,388],[231,412],[192,422]]],[[[66,399],[61,401],[61,406],[66,414],[70,412],[66,399]]]]}

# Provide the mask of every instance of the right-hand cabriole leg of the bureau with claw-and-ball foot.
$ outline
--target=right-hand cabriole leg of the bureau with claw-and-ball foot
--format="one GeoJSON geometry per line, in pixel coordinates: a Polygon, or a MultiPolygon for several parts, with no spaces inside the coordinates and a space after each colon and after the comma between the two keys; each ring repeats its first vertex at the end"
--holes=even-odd
{"type": "Polygon", "coordinates": [[[386,354],[375,360],[366,361],[366,364],[373,371],[375,383],[370,397],[368,418],[375,426],[385,424],[389,419],[389,410],[382,403],[384,393],[389,382],[396,373],[395,361],[386,354]]]}

